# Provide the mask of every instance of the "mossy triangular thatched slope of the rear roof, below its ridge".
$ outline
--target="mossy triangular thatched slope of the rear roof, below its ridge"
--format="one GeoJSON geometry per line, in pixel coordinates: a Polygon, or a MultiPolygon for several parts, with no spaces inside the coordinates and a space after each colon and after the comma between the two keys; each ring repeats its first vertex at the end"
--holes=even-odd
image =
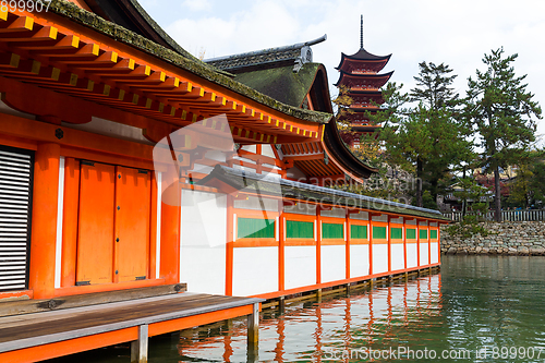
{"type": "Polygon", "coordinates": [[[300,107],[312,87],[319,63],[305,63],[299,73],[293,65],[238,73],[234,81],[270,96],[282,104],[300,107]]]}

